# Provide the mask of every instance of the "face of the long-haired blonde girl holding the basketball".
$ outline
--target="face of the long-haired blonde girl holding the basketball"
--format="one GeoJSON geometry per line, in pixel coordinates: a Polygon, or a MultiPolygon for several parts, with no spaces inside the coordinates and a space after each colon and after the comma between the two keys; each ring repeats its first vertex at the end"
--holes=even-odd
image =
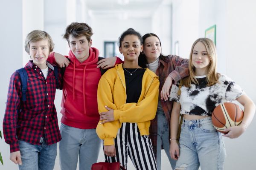
{"type": "Polygon", "coordinates": [[[210,63],[205,45],[202,42],[197,42],[193,48],[192,64],[195,67],[196,76],[203,76],[207,73],[207,68],[210,63]]]}

